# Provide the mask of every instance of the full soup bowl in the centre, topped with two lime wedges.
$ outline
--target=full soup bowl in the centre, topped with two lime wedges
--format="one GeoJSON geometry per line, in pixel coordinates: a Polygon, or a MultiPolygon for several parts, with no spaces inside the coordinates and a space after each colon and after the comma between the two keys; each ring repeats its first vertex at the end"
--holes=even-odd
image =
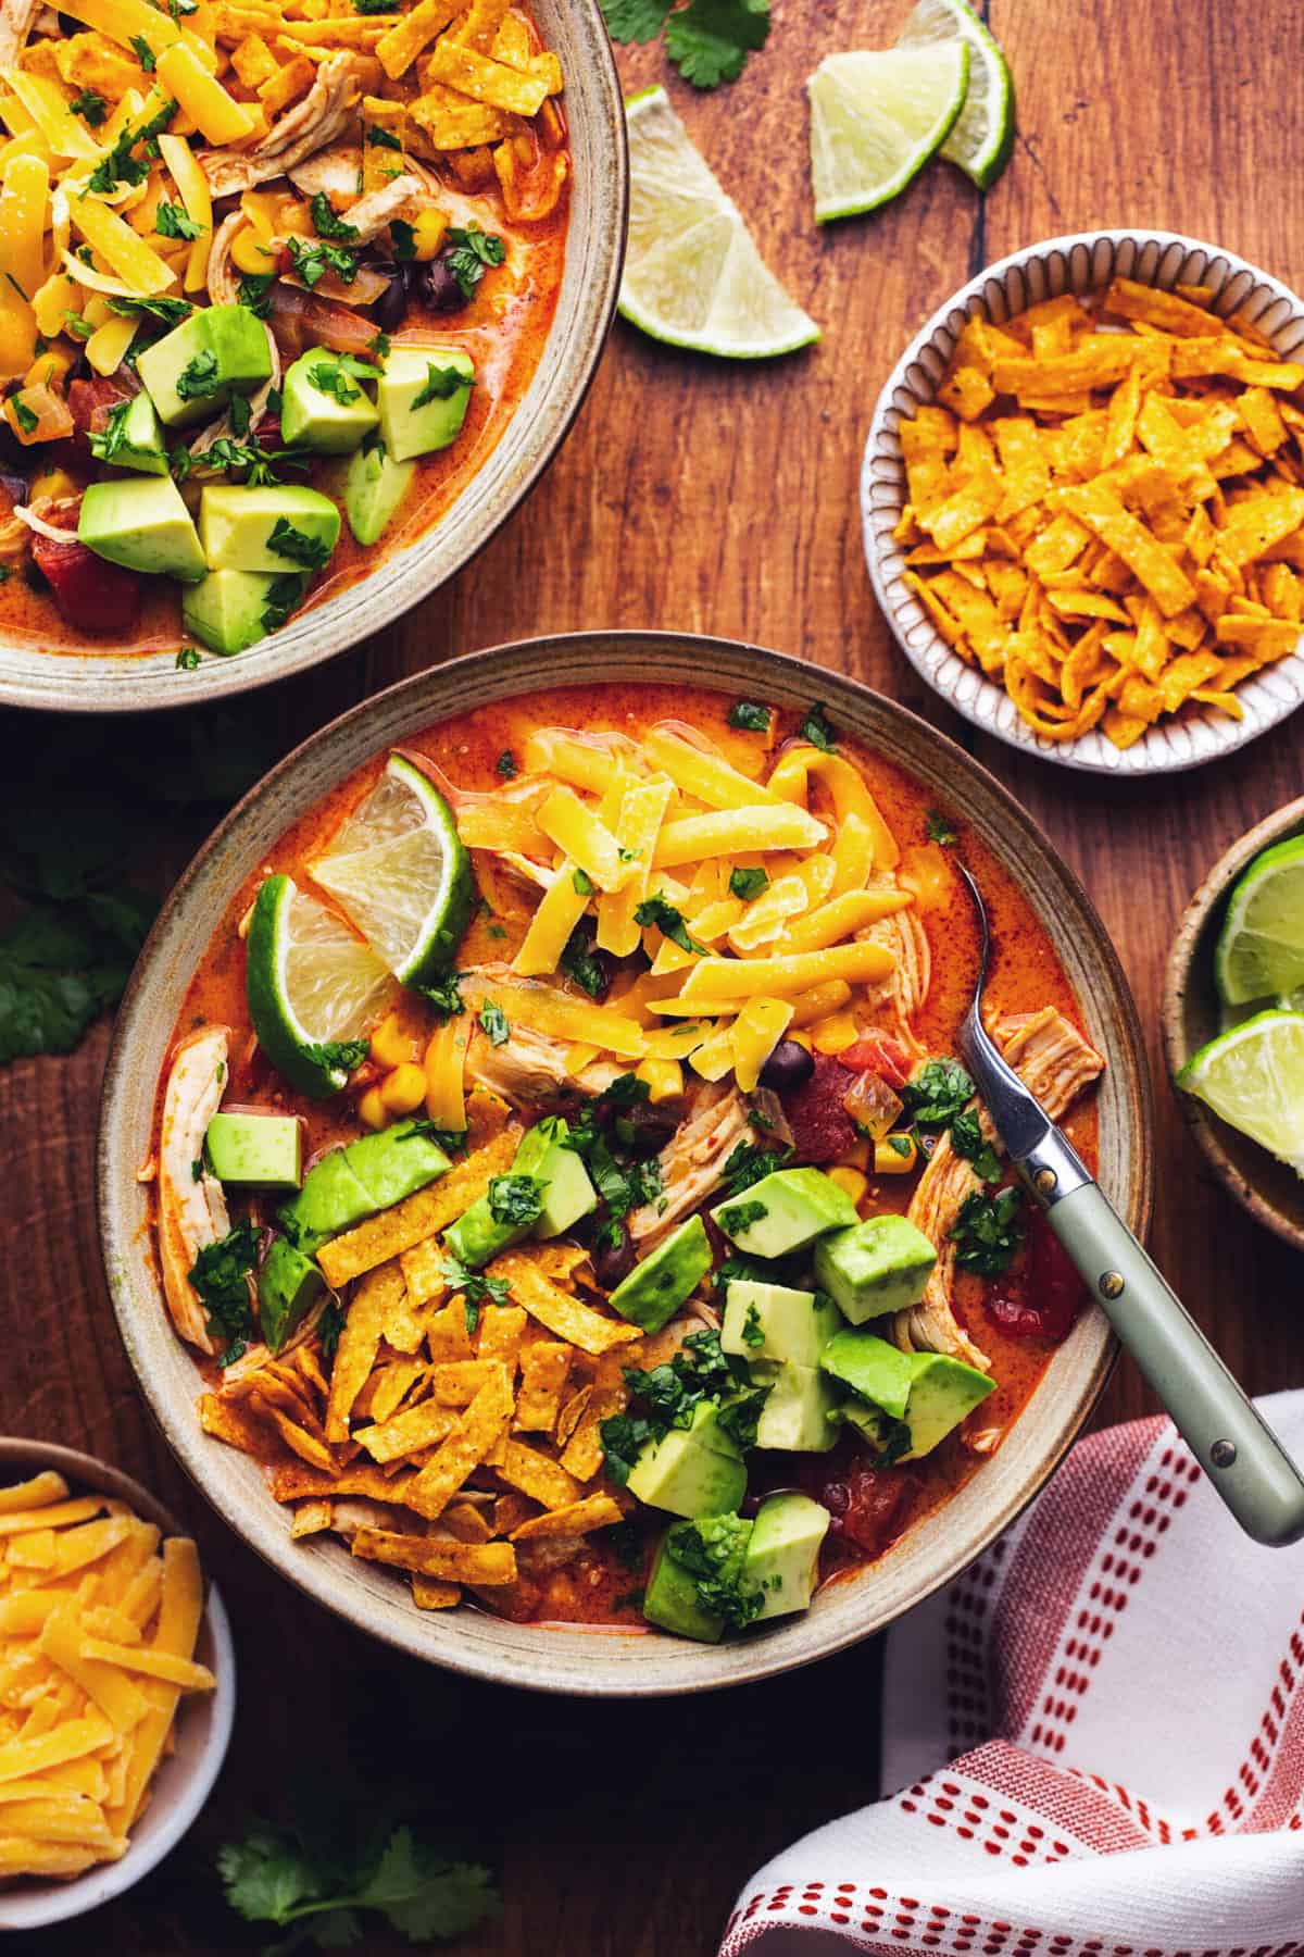
{"type": "Polygon", "coordinates": [[[762,1677],[919,1603],[1110,1362],[956,1061],[987,1012],[1134,1229],[1136,1014],[1019,804],[721,640],[454,661],[213,836],[108,1067],[104,1254],[184,1466],[467,1673],[762,1677]]]}

